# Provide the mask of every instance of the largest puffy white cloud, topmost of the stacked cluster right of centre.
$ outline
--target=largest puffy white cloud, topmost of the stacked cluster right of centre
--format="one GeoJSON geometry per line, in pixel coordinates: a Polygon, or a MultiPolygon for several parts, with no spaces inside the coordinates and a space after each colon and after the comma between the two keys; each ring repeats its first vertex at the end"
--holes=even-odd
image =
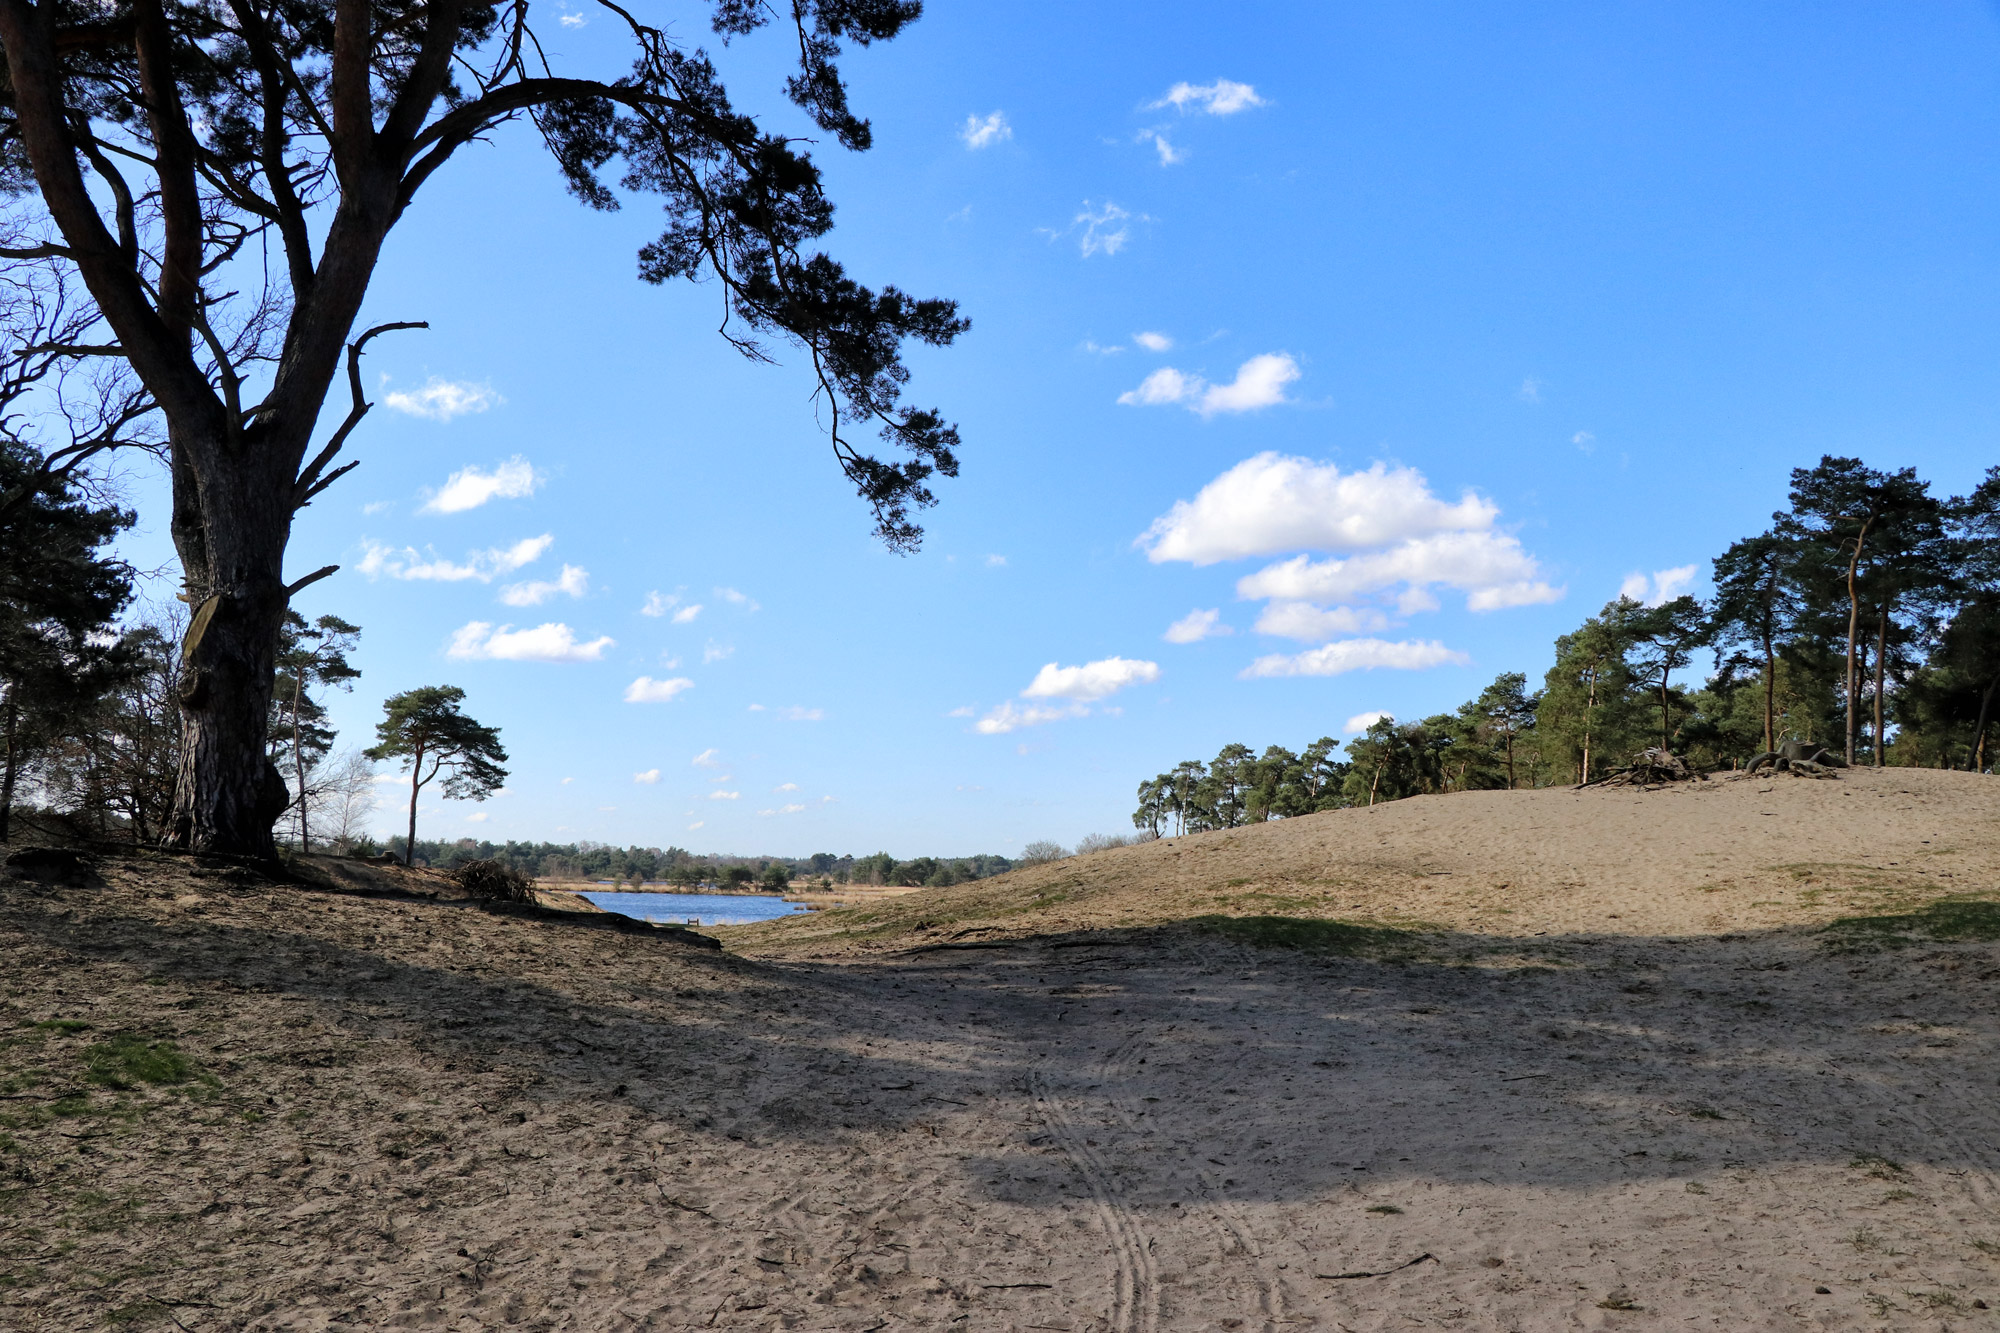
{"type": "Polygon", "coordinates": [[[1432,532],[1488,528],[1500,516],[1492,500],[1464,492],[1456,504],[1430,492],[1416,468],[1376,462],[1342,472],[1264,452],[1244,458],[1192,500],[1176,500],[1140,544],[1154,564],[1216,564],[1280,550],[1366,550],[1432,532]]]}

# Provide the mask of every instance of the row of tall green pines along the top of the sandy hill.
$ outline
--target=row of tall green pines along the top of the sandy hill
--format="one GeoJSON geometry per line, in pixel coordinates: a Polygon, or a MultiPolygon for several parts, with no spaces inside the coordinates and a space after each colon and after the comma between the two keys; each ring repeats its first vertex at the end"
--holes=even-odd
{"type": "Polygon", "coordinates": [[[1346,745],[1292,755],[1228,745],[1138,787],[1152,833],[1450,791],[1586,783],[1648,745],[1704,769],[1778,741],[1858,765],[1988,773],[2000,697],[2000,466],[1940,498],[1914,468],[1820,458],[1790,508],[1714,560],[1716,594],[1618,596],[1556,640],[1530,691],[1504,673],[1478,699],[1414,723],[1382,717],[1346,745]],[[1676,681],[1702,650],[1698,687],[1676,681]]]}

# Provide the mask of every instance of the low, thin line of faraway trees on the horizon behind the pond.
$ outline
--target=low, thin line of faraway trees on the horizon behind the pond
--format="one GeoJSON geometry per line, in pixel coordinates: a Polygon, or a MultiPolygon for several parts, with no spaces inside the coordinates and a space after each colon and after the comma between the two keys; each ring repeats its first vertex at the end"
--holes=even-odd
{"type": "MultiPolygon", "coordinates": [[[[404,851],[402,839],[366,843],[360,855],[404,851]]],[[[606,843],[482,843],[416,841],[420,865],[454,867],[468,861],[500,861],[538,879],[614,881],[674,885],[684,889],[736,889],[748,885],[782,887],[792,881],[832,885],[956,885],[1012,871],[1006,857],[914,857],[898,861],[888,853],[872,857],[722,857],[696,855],[684,847],[610,847],[606,843]]]]}

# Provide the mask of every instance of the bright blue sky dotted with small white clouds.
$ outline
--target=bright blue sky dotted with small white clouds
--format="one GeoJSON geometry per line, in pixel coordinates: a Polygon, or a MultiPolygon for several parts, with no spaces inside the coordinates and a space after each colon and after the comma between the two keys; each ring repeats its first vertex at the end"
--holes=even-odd
{"type": "MultiPolygon", "coordinates": [[[[616,68],[570,12],[550,46],[616,68]]],[[[718,52],[802,128],[782,60],[718,52]]],[[[1990,6],[938,0],[844,70],[876,148],[818,152],[830,248],[972,318],[912,356],[964,434],[922,554],[870,540],[796,356],[634,278],[644,198],[586,212],[502,132],[392,236],[366,322],[432,328],[372,346],[290,568],[364,626],[344,741],[434,683],[500,727],[506,793],[426,837],[1124,831],[1176,761],[1538,681],[1632,576],[1702,592],[1820,452],[2000,460],[1990,6]]]]}

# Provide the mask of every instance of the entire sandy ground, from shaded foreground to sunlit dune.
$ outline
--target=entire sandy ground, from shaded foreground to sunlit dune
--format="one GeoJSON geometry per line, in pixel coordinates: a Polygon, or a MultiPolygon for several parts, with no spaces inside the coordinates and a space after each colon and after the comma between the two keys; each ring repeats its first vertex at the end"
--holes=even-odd
{"type": "Polygon", "coordinates": [[[1426,799],[726,953],[380,869],[8,881],[0,1327],[1994,1327],[2000,945],[1818,927],[2000,897],[1996,817],[1426,799]],[[1436,931],[1176,925],[1260,913],[1436,931]],[[118,1035],[194,1067],[90,1083],[118,1035]]]}

